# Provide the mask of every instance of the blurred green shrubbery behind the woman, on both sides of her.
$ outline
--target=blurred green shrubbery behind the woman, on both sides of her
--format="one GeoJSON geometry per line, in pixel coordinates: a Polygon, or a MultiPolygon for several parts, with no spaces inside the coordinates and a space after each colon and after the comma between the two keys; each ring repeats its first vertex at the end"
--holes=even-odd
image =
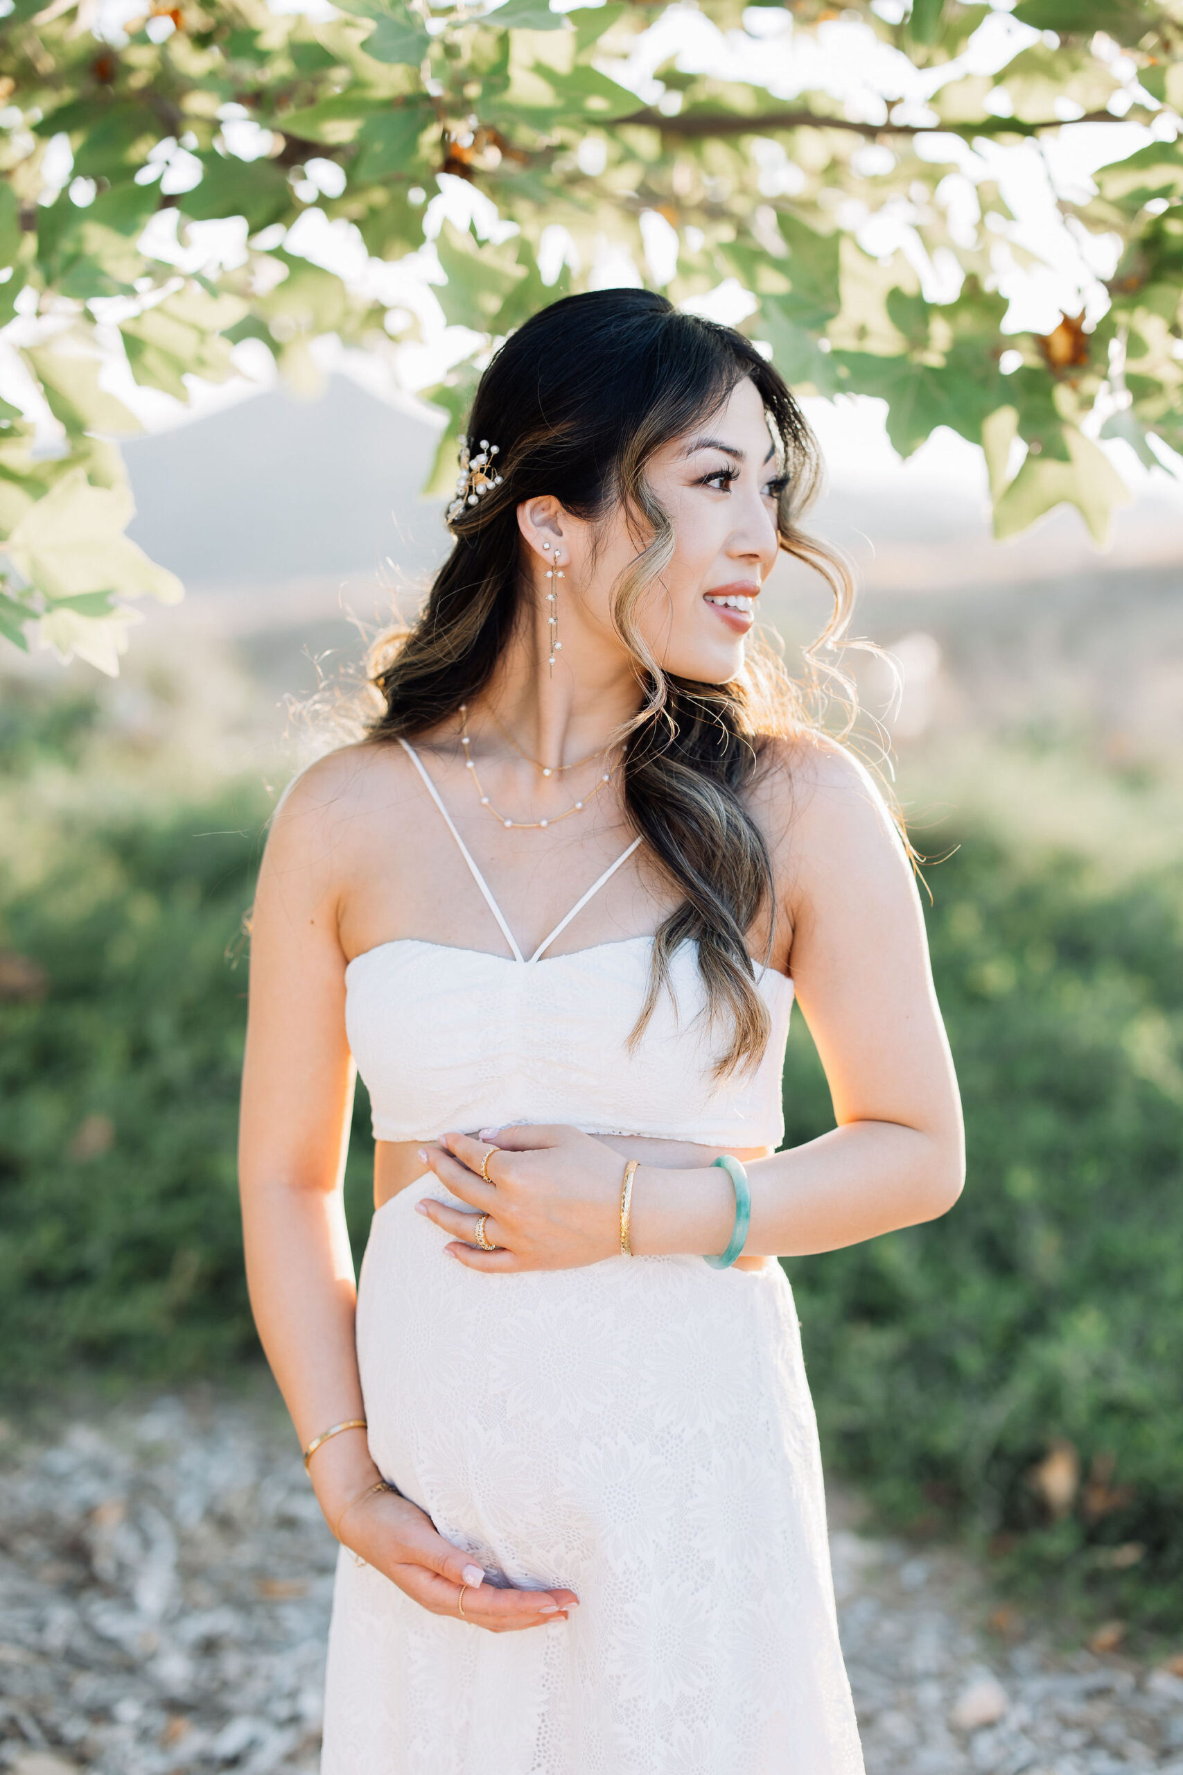
{"type": "MultiPolygon", "coordinates": [[[[112,756],[85,698],[7,699],[0,1338],[12,1388],[80,1369],[225,1372],[257,1353],[234,1132],[241,921],[270,801],[257,781],[188,801],[160,785],[112,797],[135,769],[112,756]]],[[[968,1182],[929,1227],[787,1266],[827,1466],[913,1530],[990,1535],[1018,1585],[1054,1580],[1178,1626],[1183,886],[1165,870],[1116,880],[1029,832],[1007,843],[986,829],[929,879],[968,1182]]],[[[358,1099],[348,1211],[360,1250],[371,1148],[358,1099]]],[[[830,1125],[800,1019],[786,1100],[789,1143],[830,1125]]]]}

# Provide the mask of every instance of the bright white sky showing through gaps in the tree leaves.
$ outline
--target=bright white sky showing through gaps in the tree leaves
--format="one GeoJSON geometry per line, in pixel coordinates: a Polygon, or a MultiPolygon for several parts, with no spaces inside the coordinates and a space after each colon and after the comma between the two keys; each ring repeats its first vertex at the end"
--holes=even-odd
{"type": "MultiPolygon", "coordinates": [[[[560,5],[566,4],[559,0],[560,5]]],[[[880,0],[885,16],[897,0],[880,0]]],[[[309,11],[326,16],[332,7],[326,0],[271,0],[277,11],[309,11]]],[[[98,18],[105,34],[119,37],[121,25],[142,11],[142,0],[99,0],[98,18]]],[[[921,71],[908,59],[889,44],[881,43],[864,23],[850,18],[835,18],[821,25],[816,43],[805,34],[795,34],[793,20],[784,11],[752,9],[745,16],[748,32],[720,32],[708,18],[692,5],[670,7],[647,32],[644,32],[626,62],[605,64],[605,71],[615,80],[637,91],[644,101],[658,96],[654,69],[670,55],[678,57],[685,71],[711,71],[724,78],[757,80],[779,98],[791,99],[805,89],[823,89],[841,99],[846,114],[866,121],[885,121],[889,112],[894,121],[935,122],[935,114],[928,108],[928,99],[936,85],[965,73],[999,76],[999,87],[991,96],[991,106],[1006,110],[1006,64],[1018,50],[1038,41],[1039,34],[1020,25],[1009,16],[1006,5],[983,7],[983,23],[968,41],[965,53],[954,64],[945,64],[936,71],[921,71]]],[[[167,25],[165,25],[167,28],[167,25]]],[[[1114,46],[1114,73],[1124,82],[1126,94],[1133,96],[1135,69],[1114,46]]],[[[1117,114],[1130,103],[1126,94],[1117,96],[1112,106],[1117,114]]],[[[266,151],[268,133],[243,115],[234,115],[234,106],[223,115],[223,130],[232,137],[234,153],[252,158],[254,153],[266,151]]],[[[970,147],[956,137],[942,135],[931,142],[931,158],[956,158],[960,172],[945,178],[942,185],[942,202],[947,204],[952,225],[972,225],[977,220],[975,183],[983,178],[999,181],[1002,195],[1016,217],[1015,225],[999,222],[995,229],[993,270],[1000,291],[1009,300],[1009,312],[1004,323],[1006,332],[1050,332],[1059,321],[1061,311],[1078,312],[1085,309],[1096,320],[1107,305],[1103,277],[1112,275],[1117,238],[1089,238],[1082,229],[1066,222],[1057,199],[1085,197],[1091,190],[1091,174],[1105,162],[1123,158],[1135,147],[1151,140],[1151,135],[1172,135],[1174,126],[1167,117],[1156,122],[1155,130],[1140,124],[1077,124],[1068,122],[1071,108],[1066,110],[1066,128],[1059,138],[1046,140],[1041,147],[1022,144],[1002,147],[979,138],[970,147]],[[1009,236],[1009,238],[1007,238],[1009,236]],[[1036,256],[1034,266],[1020,266],[1011,250],[1011,243],[1027,248],[1036,256]]],[[[60,181],[71,176],[69,149],[60,138],[64,154],[60,181]]],[[[881,170],[880,162],[885,147],[869,144],[860,151],[866,156],[866,172],[881,170]],[[878,156],[878,160],[876,160],[878,156]]],[[[167,165],[161,188],[184,190],[195,181],[195,167],[190,167],[184,149],[177,149],[167,165]]],[[[800,172],[787,162],[777,144],[763,144],[756,154],[757,176],[766,195],[791,195],[795,185],[800,186],[800,172]]],[[[591,169],[589,169],[591,170],[591,169]]],[[[335,195],[341,188],[341,169],[332,162],[312,163],[309,169],[312,186],[319,186],[326,195],[335,195]]],[[[317,264],[337,272],[351,286],[378,298],[388,309],[390,346],[385,353],[344,353],[335,341],[323,341],[317,346],[321,367],[344,369],[364,382],[374,392],[390,399],[408,399],[415,390],[438,382],[450,364],[463,359],[475,335],[465,328],[449,327],[440,304],[435,298],[433,284],[442,282],[442,273],[433,238],[443,225],[445,217],[459,227],[470,222],[482,238],[502,238],[514,233],[511,224],[500,222],[493,202],[474,190],[463,179],[440,176],[436,190],[427,195],[424,224],[427,245],[397,264],[371,259],[356,229],[344,222],[330,222],[323,209],[316,208],[316,188],[303,193],[310,204],[294,227],[287,233],[286,247],[317,264]],[[419,321],[420,341],[399,344],[397,332],[410,318],[419,321]]],[[[944,259],[936,254],[929,259],[915,229],[915,209],[906,199],[899,199],[871,217],[857,199],[846,206],[842,225],[853,227],[860,241],[876,254],[890,254],[901,248],[915,266],[921,284],[933,300],[949,300],[956,295],[960,273],[952,254],[944,259]]],[[[241,263],[247,254],[245,222],[197,222],[188,227],[188,247],[181,248],[176,240],[177,213],[160,211],[149,224],[145,245],[151,250],[177,264],[179,270],[215,270],[218,264],[231,266],[241,263]]],[[[646,257],[649,273],[656,280],[665,280],[676,263],[674,231],[660,217],[647,218],[646,257]]],[[[562,229],[548,231],[544,238],[544,257],[550,257],[557,275],[564,254],[569,254],[569,241],[562,229]]],[[[592,286],[621,282],[639,282],[639,270],[621,248],[607,243],[591,268],[592,286]]],[[[725,280],[695,309],[709,312],[722,321],[738,321],[752,309],[752,298],[736,284],[725,280]]],[[[117,318],[115,309],[110,314],[117,318]]],[[[30,327],[35,323],[28,323],[30,327]]],[[[9,328],[12,343],[20,337],[25,323],[20,320],[9,328]]],[[[0,392],[12,390],[9,398],[28,405],[30,385],[21,378],[14,353],[4,351],[0,337],[0,392]],[[23,396],[23,399],[21,399],[23,396]]],[[[275,376],[273,362],[259,341],[247,341],[236,348],[236,360],[241,376],[220,387],[199,383],[186,378],[193,389],[193,401],[188,408],[170,396],[151,389],[137,389],[126,369],[112,371],[110,385],[142,417],[149,430],[183,424],[215,406],[243,399],[275,376]]],[[[883,405],[880,401],[842,398],[839,403],[816,401],[814,419],[823,433],[823,442],[832,438],[841,446],[839,453],[851,474],[881,477],[896,463],[883,433],[883,405]]],[[[1132,481],[1146,479],[1133,451],[1124,444],[1107,446],[1117,462],[1121,474],[1132,481]]],[[[981,456],[970,446],[951,438],[942,431],[931,440],[922,458],[931,460],[931,469],[960,485],[981,485],[981,456]]]]}

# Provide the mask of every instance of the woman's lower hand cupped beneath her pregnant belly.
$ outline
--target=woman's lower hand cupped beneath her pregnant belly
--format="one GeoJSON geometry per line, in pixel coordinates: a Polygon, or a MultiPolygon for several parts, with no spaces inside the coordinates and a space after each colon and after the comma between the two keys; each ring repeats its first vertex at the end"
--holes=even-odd
{"type": "Polygon", "coordinates": [[[380,1571],[433,1615],[459,1615],[490,1633],[544,1628],[566,1621],[578,1603],[573,1590],[502,1590],[484,1583],[484,1571],[436,1532],[431,1518],[396,1491],[358,1495],[330,1523],[342,1546],[380,1571]]]}

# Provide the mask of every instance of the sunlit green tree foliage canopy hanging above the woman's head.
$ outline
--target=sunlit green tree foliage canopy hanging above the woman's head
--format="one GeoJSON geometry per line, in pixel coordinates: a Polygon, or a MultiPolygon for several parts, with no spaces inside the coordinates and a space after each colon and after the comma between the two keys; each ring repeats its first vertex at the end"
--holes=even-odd
{"type": "Polygon", "coordinates": [[[122,534],[112,438],[138,426],[105,360],[188,399],[243,339],[302,382],[317,335],[390,351],[413,330],[381,277],[305,254],[307,224],[289,231],[309,209],[371,261],[435,254],[443,314],[472,330],[435,390],[440,486],[482,353],[594,277],[605,243],[676,302],[734,279],[789,382],[880,396],[901,454],[936,426],[979,444],[1000,536],[1069,501],[1103,538],[1124,488],[1098,433],[1148,463],[1151,438],[1183,446],[1183,0],[319,11],[151,0],[114,28],[94,0],[0,0],[0,327],[27,390],[0,403],[0,632],[18,646],[114,671],[122,600],[181,591],[122,534]],[[704,21],[720,53],[701,71],[679,34],[704,21]],[[855,51],[874,91],[834,78],[855,51]],[[1066,179],[1057,149],[1082,130],[1112,151],[1066,179]],[[1041,257],[1006,201],[1032,156],[1093,266],[1046,335],[1004,332],[999,289],[1041,257]],[[484,236],[433,224],[449,176],[495,206],[484,236]],[[202,263],[199,225],[225,218],[238,250],[202,263]]]}

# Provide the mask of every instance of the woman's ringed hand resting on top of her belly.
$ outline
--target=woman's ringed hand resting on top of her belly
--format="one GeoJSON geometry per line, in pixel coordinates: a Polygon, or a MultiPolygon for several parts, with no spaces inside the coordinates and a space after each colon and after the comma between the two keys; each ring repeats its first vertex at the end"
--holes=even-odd
{"type": "Polygon", "coordinates": [[[497,1138],[443,1134],[424,1147],[422,1163],[475,1212],[445,1207],[433,1196],[420,1214],[454,1235],[447,1250],[468,1269],[582,1269],[621,1251],[621,1179],[624,1163],[576,1127],[498,1127],[497,1138]],[[490,1182],[481,1166],[486,1154],[490,1182]],[[477,1244],[477,1218],[497,1251],[477,1244]]]}

